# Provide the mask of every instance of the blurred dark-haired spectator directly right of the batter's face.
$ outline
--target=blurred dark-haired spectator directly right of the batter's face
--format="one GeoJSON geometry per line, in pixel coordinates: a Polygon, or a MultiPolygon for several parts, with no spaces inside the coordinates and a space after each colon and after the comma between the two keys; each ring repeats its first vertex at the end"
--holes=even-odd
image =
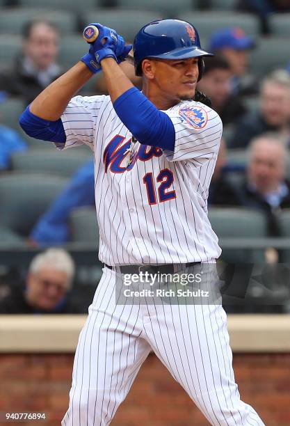
{"type": "Polygon", "coordinates": [[[198,90],[211,100],[223,125],[234,123],[246,112],[243,102],[231,92],[232,72],[227,60],[221,56],[204,58],[205,68],[198,90]]]}

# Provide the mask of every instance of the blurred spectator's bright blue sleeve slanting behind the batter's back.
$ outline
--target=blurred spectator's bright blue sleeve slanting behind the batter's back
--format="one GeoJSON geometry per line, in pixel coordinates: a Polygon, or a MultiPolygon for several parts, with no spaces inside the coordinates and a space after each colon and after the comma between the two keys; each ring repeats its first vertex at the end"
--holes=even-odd
{"type": "Polygon", "coordinates": [[[94,182],[94,161],[89,159],[36,223],[31,231],[31,244],[45,247],[67,242],[70,239],[70,212],[76,207],[94,205],[94,182]]]}

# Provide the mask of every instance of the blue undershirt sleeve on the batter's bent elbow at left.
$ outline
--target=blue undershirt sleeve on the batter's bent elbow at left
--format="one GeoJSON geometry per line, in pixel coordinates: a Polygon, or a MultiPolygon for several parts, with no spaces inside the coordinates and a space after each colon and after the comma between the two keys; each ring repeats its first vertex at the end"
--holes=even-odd
{"type": "Polygon", "coordinates": [[[32,138],[51,142],[65,143],[66,141],[65,129],[61,118],[56,121],[44,120],[31,113],[29,106],[19,117],[19,124],[24,129],[24,132],[32,138]]]}

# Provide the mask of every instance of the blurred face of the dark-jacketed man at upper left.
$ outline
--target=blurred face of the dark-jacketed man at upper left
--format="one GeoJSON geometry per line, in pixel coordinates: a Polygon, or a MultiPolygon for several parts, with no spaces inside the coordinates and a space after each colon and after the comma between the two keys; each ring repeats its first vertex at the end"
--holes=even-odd
{"type": "Polygon", "coordinates": [[[24,53],[36,68],[46,70],[56,61],[58,54],[58,35],[45,23],[38,23],[31,29],[29,39],[24,43],[24,53]]]}

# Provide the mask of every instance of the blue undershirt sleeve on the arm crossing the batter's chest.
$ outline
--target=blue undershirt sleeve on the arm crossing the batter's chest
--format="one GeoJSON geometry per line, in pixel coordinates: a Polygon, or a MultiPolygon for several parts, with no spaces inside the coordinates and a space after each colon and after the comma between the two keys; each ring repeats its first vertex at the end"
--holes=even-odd
{"type": "Polygon", "coordinates": [[[113,102],[113,107],[122,123],[140,143],[174,151],[175,128],[172,121],[138,88],[129,88],[113,102]]]}

